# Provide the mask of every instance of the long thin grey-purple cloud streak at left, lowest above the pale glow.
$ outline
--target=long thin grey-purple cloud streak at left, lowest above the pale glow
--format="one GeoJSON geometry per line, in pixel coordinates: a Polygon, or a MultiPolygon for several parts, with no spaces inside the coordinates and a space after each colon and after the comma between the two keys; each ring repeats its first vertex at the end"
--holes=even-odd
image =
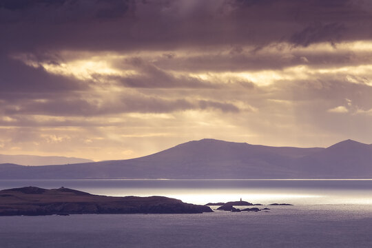
{"type": "Polygon", "coordinates": [[[238,107],[231,103],[217,101],[187,101],[185,99],[161,99],[160,97],[147,96],[122,96],[114,101],[107,100],[103,103],[94,99],[85,100],[79,96],[68,99],[48,99],[34,101],[22,99],[12,105],[0,108],[3,114],[12,116],[17,114],[37,114],[47,116],[101,116],[122,113],[168,113],[183,110],[220,110],[222,112],[239,112],[238,107]],[[14,107],[16,105],[17,107],[14,107]]]}

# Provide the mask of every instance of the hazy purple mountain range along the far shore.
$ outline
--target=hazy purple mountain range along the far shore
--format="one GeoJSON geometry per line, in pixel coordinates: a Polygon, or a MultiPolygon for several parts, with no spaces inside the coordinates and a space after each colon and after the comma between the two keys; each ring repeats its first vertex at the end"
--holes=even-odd
{"type": "Polygon", "coordinates": [[[81,178],[372,178],[372,145],[270,147],[214,139],[118,161],[69,165],[0,165],[3,179],[81,178]]]}

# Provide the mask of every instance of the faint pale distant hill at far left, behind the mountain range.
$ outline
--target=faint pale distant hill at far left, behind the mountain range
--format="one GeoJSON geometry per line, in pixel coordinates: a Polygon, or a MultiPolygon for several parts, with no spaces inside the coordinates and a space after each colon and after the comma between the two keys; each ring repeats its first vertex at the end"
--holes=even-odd
{"type": "Polygon", "coordinates": [[[13,163],[17,165],[65,165],[74,163],[91,163],[90,159],[68,158],[64,156],[34,156],[34,155],[4,155],[0,154],[1,163],[13,163]]]}

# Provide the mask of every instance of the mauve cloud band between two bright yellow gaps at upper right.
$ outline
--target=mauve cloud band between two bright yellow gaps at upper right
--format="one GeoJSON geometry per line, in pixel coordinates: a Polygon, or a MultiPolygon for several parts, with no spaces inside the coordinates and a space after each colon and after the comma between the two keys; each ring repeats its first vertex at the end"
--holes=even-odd
{"type": "MultiPolygon", "coordinates": [[[[274,48],[275,49],[275,48],[274,48]]],[[[243,72],[259,70],[282,70],[296,65],[308,65],[313,68],[332,68],[346,65],[363,65],[371,63],[369,52],[355,54],[350,50],[314,50],[296,51],[274,50],[254,53],[251,51],[239,54],[199,54],[174,56],[173,59],[156,59],[154,65],[163,70],[181,70],[188,72],[243,72]],[[355,57],[358,56],[358,59],[355,57]]]]}

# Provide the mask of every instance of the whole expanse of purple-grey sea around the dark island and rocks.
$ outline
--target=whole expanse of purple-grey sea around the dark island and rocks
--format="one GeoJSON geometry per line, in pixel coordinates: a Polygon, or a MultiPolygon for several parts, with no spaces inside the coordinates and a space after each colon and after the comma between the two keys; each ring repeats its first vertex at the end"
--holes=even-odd
{"type": "MultiPolygon", "coordinates": [[[[372,180],[0,180],[186,203],[246,200],[258,212],[1,216],[0,247],[372,247],[372,180]],[[269,205],[289,203],[292,205],[269,205]]],[[[242,208],[242,207],[240,207],[242,208]]]]}

